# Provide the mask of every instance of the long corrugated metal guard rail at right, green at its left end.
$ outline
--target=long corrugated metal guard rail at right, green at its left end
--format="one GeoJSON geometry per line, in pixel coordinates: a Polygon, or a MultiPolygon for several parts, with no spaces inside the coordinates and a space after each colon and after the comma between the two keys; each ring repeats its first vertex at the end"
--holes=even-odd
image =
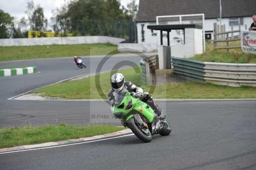
{"type": "Polygon", "coordinates": [[[174,73],[181,77],[226,86],[256,86],[256,64],[212,63],[171,57],[174,73]]]}

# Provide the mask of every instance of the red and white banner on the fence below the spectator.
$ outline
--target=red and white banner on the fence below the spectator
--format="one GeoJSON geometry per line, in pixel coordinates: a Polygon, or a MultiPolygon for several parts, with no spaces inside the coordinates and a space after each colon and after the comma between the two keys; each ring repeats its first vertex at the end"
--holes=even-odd
{"type": "Polygon", "coordinates": [[[241,30],[241,49],[256,54],[256,31],[241,30]]]}

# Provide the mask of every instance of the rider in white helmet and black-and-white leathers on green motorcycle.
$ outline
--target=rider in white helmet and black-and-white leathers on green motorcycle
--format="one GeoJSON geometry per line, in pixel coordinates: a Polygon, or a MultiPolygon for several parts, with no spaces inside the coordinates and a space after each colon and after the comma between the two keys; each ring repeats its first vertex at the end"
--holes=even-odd
{"type": "Polygon", "coordinates": [[[143,89],[135,86],[130,81],[125,81],[125,77],[121,73],[116,73],[111,76],[111,86],[112,89],[108,93],[108,99],[111,101],[111,105],[114,103],[114,96],[116,92],[131,92],[134,94],[134,97],[140,98],[141,101],[148,104],[155,113],[159,116],[160,119],[166,118],[166,115],[163,114],[163,111],[158,107],[158,105],[153,101],[151,95],[143,93],[143,89]]]}

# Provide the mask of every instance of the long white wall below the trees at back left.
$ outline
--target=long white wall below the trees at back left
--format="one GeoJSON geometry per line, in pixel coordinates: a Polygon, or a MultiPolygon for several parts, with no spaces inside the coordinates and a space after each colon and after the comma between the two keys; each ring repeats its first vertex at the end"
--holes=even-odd
{"type": "Polygon", "coordinates": [[[0,39],[0,46],[43,46],[64,44],[93,44],[111,43],[118,45],[123,38],[108,36],[80,36],[80,37],[41,37],[41,38],[6,38],[0,39]]]}

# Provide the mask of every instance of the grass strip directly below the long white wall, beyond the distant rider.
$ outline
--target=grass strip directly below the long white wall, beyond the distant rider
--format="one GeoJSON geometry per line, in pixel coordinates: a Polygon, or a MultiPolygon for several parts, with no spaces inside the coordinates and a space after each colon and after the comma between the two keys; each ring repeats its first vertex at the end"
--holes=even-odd
{"type": "Polygon", "coordinates": [[[50,46],[0,46],[0,61],[59,58],[74,55],[106,55],[116,49],[117,46],[110,43],[50,46]]]}

